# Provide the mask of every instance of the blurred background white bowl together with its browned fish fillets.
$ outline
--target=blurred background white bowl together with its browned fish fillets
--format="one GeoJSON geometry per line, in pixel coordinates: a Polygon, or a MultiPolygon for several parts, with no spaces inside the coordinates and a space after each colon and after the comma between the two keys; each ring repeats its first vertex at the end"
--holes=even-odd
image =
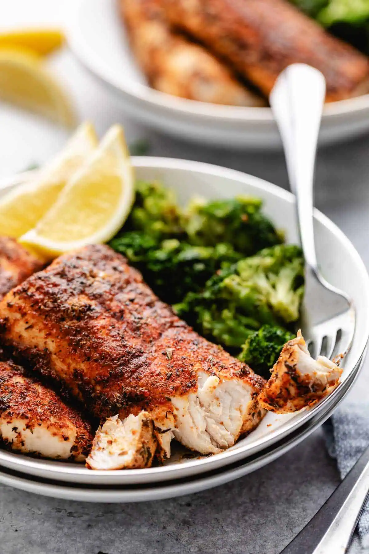
{"type": "MultiPolygon", "coordinates": [[[[184,2],[179,2],[174,9],[175,2],[171,0],[80,0],[75,4],[70,25],[70,45],[81,63],[112,90],[127,114],[191,141],[238,148],[280,145],[266,98],[279,71],[295,61],[315,65],[328,82],[330,101],[324,108],[322,143],[346,139],[368,129],[369,61],[365,54],[332,38],[294,6],[287,6],[285,13],[287,0],[278,0],[278,3],[266,0],[245,2],[245,14],[234,10],[231,13],[235,21],[241,20],[246,39],[247,33],[252,31],[250,13],[256,18],[254,24],[259,34],[256,44],[251,45],[255,52],[252,50],[248,59],[243,50],[238,52],[236,48],[235,53],[232,49],[228,52],[227,46],[219,47],[222,32],[226,33],[226,44],[237,45],[234,25],[217,34],[218,27],[222,29],[224,2],[218,3],[219,10],[214,9],[213,14],[206,8],[207,3],[204,0],[188,6],[196,10],[204,4],[206,17],[214,21],[212,26],[199,19],[204,16],[201,10],[200,16],[195,18],[186,13],[186,9],[181,12],[184,2]],[[124,25],[119,11],[124,12],[128,26],[124,25]],[[188,38],[184,39],[180,33],[168,36],[161,19],[163,12],[165,17],[170,12],[175,25],[183,19],[185,23],[180,33],[184,30],[187,37],[190,31],[198,42],[189,45],[188,38]],[[181,17],[183,14],[186,17],[181,17]],[[260,25],[258,17],[262,20],[260,25]],[[193,21],[198,20],[196,18],[200,20],[198,28],[195,24],[191,27],[193,21]],[[201,29],[209,28],[215,29],[214,35],[201,34],[201,29]],[[291,42],[285,39],[287,35],[291,42]],[[253,63],[254,58],[259,61],[253,63]],[[245,68],[244,59],[248,59],[245,68]],[[271,59],[271,64],[265,65],[265,59],[271,59]],[[236,73],[244,72],[262,89],[264,99],[243,81],[242,86],[236,82],[228,65],[237,66],[236,73]]],[[[322,14],[321,19],[328,15],[322,14]]],[[[369,17],[368,14],[357,14],[359,16],[363,21],[369,17]]],[[[364,28],[364,23],[362,27],[359,23],[354,26],[357,29],[355,37],[360,37],[364,28]]]]}

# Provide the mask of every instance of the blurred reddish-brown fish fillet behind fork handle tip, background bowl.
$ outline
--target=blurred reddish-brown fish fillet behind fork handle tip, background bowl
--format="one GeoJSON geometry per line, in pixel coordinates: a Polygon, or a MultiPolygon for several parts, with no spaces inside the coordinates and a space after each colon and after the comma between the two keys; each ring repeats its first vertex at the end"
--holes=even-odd
{"type": "MultiPolygon", "coordinates": [[[[128,0],[129,1],[129,0],[128,0]]],[[[369,91],[369,60],[287,0],[160,0],[173,25],[228,61],[266,96],[289,64],[326,78],[327,101],[369,91]]]]}

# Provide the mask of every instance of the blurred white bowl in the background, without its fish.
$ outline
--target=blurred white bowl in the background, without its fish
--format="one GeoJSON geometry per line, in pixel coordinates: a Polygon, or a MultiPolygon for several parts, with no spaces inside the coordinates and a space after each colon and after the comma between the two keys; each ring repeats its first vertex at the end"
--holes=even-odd
{"type": "MultiPolygon", "coordinates": [[[[268,107],[206,104],[151,89],[139,70],[118,17],[117,0],[77,0],[69,43],[82,64],[121,101],[127,115],[175,136],[226,147],[280,145],[268,107]]],[[[369,95],[325,106],[320,141],[369,131],[369,95]]]]}

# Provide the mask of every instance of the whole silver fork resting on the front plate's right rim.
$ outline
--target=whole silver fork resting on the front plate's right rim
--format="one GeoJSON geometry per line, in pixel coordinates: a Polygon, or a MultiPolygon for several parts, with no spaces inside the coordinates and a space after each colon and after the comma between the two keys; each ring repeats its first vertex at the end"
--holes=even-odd
{"type": "Polygon", "coordinates": [[[355,309],[344,291],[320,274],[314,243],[314,170],[325,99],[325,79],[305,64],[281,73],[269,101],[282,137],[288,177],[296,196],[300,239],[305,257],[302,331],[312,356],[346,353],[354,337],[355,309]]]}

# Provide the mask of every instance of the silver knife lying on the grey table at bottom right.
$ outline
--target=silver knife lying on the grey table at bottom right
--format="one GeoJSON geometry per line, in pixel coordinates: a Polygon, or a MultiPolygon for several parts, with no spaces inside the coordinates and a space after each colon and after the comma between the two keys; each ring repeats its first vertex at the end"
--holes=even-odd
{"type": "Polygon", "coordinates": [[[369,496],[369,447],[281,554],[344,554],[369,496]]]}

